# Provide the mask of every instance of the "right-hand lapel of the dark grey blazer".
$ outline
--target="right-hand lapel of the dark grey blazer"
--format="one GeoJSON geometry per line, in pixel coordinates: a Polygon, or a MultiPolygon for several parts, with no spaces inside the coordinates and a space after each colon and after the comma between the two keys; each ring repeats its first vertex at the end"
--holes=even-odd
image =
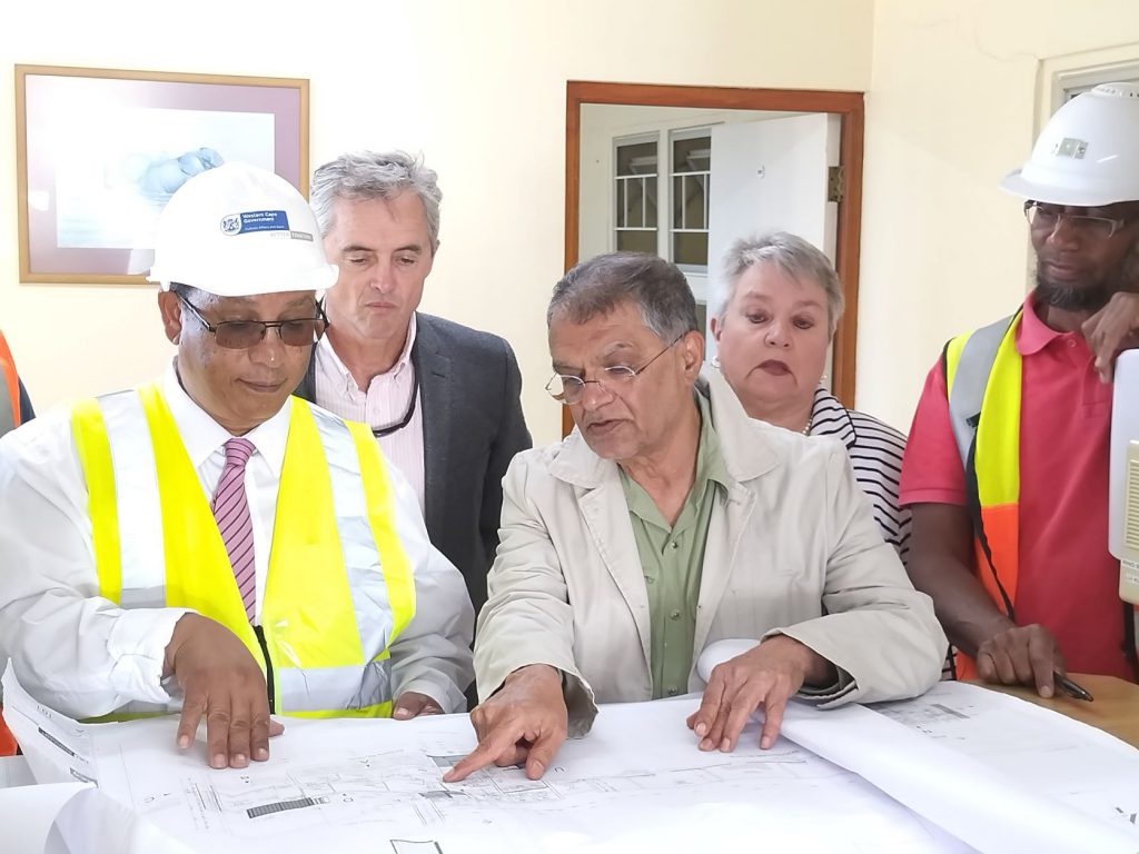
{"type": "Polygon", "coordinates": [[[454,391],[448,381],[451,356],[431,318],[416,314],[416,340],[411,364],[419,378],[424,422],[424,517],[427,533],[436,541],[443,527],[443,479],[448,471],[454,391]]]}

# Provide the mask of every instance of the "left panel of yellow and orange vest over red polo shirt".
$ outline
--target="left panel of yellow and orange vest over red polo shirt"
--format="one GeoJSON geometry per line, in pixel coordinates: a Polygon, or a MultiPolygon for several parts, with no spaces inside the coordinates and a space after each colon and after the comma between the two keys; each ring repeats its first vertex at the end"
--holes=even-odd
{"type": "MultiPolygon", "coordinates": [[[[1021,313],[958,336],[943,367],[950,422],[965,470],[977,576],[997,607],[1015,619],[1019,574],[1021,313]]],[[[974,674],[964,655],[958,676],[974,674]]]]}

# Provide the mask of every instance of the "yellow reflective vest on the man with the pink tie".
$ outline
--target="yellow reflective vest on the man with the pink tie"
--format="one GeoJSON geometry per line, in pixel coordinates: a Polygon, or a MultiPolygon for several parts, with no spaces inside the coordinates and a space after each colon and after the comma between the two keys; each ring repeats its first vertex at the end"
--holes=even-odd
{"type": "MultiPolygon", "coordinates": [[[[391,481],[370,432],[362,442],[362,427],[295,397],[290,407],[261,608],[276,712],[387,715],[388,647],[415,613],[391,481]]],[[[72,428],[90,485],[100,594],[123,607],[192,608],[229,627],[264,670],[158,388],[80,404],[72,428]]]]}

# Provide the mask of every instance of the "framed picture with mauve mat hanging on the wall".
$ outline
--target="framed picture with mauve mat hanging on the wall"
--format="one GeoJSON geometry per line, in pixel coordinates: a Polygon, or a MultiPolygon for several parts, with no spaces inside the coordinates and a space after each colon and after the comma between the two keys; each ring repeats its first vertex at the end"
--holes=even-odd
{"type": "Polygon", "coordinates": [[[19,279],[139,284],[158,214],[240,161],[308,196],[309,81],[16,66],[19,279]]]}

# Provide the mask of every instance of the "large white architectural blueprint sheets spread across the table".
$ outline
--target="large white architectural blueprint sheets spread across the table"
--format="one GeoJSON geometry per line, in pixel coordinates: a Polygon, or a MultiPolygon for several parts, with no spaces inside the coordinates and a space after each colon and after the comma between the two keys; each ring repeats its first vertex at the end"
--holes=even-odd
{"type": "MultiPolygon", "coordinates": [[[[1013,712],[986,703],[999,695],[968,685],[939,687],[880,712],[795,704],[785,718],[787,738],[760,750],[753,722],[732,754],[696,749],[685,725],[696,699],[604,706],[593,731],[566,742],[542,780],[492,767],[453,785],[442,782],[443,771],[475,744],[466,716],[286,718],[269,762],[215,771],[205,764],[202,734],[186,753],[174,747],[172,718],[68,724],[9,676],[5,691],[9,723],[31,752],[42,754],[33,763],[41,782],[74,780],[75,766],[87,769],[100,795],[147,828],[211,854],[347,846],[383,854],[756,846],[854,854],[1139,852],[1139,832],[1123,815],[1132,810],[1126,796],[1139,779],[1139,752],[1106,736],[1100,741],[1100,733],[1080,724],[1050,728],[1057,716],[1027,704],[1021,705],[1043,713],[1027,729],[1042,729],[1025,734],[1017,716],[1017,737],[1001,740],[1000,718],[1013,712]],[[1022,779],[1027,774],[1006,773],[1006,765],[1015,765],[1013,754],[1039,750],[1040,738],[1082,750],[1081,763],[1089,756],[1115,763],[1120,774],[1130,773],[1130,783],[1089,774],[1057,795],[1022,779]],[[964,752],[961,742],[968,745],[964,752]],[[982,785],[1024,815],[1002,815],[1000,827],[984,827],[997,821],[986,807],[969,813],[953,803],[954,789],[976,793],[982,785]],[[1040,811],[1048,832],[1032,836],[1040,811]],[[1072,847],[1073,837],[1081,847],[1072,847]]],[[[1062,750],[1052,771],[1074,764],[1062,750]]],[[[1050,774],[1057,777],[1073,780],[1050,774]]]]}

